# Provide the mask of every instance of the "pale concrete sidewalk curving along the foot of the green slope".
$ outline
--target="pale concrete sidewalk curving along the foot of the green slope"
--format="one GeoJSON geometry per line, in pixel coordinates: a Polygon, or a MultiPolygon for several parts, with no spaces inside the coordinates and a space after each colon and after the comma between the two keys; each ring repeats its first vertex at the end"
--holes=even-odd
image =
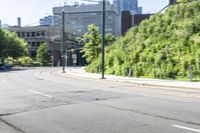
{"type": "MultiPolygon", "coordinates": [[[[62,73],[62,71],[59,71],[62,73]]],[[[87,79],[101,79],[101,74],[87,73],[84,67],[67,67],[66,76],[87,78],[87,79]]],[[[189,89],[200,89],[200,82],[189,82],[189,81],[176,81],[176,80],[160,80],[160,79],[148,79],[148,78],[130,78],[123,76],[105,75],[105,80],[117,81],[117,82],[128,82],[137,85],[144,86],[158,86],[158,87],[173,87],[173,88],[189,88],[189,89]]]]}

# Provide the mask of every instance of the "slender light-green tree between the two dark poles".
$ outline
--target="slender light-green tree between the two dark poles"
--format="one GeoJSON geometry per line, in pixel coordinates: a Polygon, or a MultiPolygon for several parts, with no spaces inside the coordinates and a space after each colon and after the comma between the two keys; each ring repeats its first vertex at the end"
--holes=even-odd
{"type": "Polygon", "coordinates": [[[86,58],[88,63],[91,63],[98,58],[101,52],[101,35],[99,28],[91,24],[88,26],[88,31],[83,35],[85,44],[83,46],[83,57],[86,58]]]}

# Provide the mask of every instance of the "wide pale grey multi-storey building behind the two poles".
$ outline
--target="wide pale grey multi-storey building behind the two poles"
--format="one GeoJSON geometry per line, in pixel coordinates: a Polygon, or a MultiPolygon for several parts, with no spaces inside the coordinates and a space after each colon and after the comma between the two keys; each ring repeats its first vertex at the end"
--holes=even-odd
{"type": "MultiPolygon", "coordinates": [[[[54,7],[54,22],[55,25],[62,24],[62,11],[65,12],[66,28],[77,35],[83,35],[87,32],[87,27],[90,24],[95,24],[102,31],[102,2],[98,4],[81,4],[81,5],[65,5],[64,7],[54,7]]],[[[116,35],[117,8],[106,2],[106,32],[116,35]]]]}

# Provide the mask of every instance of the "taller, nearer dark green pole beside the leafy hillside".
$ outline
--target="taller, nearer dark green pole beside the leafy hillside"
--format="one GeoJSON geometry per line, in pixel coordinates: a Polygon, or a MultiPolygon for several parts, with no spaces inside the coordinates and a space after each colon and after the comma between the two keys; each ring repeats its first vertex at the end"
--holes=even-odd
{"type": "Polygon", "coordinates": [[[104,58],[105,58],[105,8],[106,8],[106,3],[105,3],[105,0],[103,0],[103,12],[102,12],[102,49],[101,49],[101,52],[102,52],[102,79],[105,79],[104,77],[104,71],[105,71],[105,66],[104,66],[104,58]]]}

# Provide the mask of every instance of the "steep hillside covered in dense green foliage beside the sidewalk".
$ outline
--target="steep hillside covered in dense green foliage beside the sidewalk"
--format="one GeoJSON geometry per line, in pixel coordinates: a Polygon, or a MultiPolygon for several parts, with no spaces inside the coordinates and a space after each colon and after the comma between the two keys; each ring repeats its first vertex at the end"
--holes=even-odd
{"type": "MultiPolygon", "coordinates": [[[[87,71],[97,72],[101,56],[87,71]]],[[[160,79],[186,79],[189,67],[200,79],[200,1],[182,0],[153,15],[106,48],[106,73],[160,79]],[[190,1],[190,2],[189,2],[190,1]]]]}

